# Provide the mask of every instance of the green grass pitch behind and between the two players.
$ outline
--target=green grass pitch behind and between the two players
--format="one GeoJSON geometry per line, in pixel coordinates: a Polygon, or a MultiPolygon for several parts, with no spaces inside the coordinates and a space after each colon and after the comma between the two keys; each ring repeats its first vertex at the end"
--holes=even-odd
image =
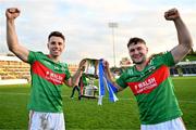
{"type": "MultiPolygon", "coordinates": [[[[183,119],[188,130],[196,129],[196,77],[173,77],[175,93],[184,113],[183,119]]],[[[70,99],[72,89],[63,88],[63,110],[66,130],[138,130],[138,110],[130,89],[118,93],[120,99],[111,103],[107,98],[103,105],[97,100],[70,99]]],[[[29,86],[0,87],[0,129],[27,129],[29,86]],[[17,94],[16,94],[17,93],[17,94]]]]}

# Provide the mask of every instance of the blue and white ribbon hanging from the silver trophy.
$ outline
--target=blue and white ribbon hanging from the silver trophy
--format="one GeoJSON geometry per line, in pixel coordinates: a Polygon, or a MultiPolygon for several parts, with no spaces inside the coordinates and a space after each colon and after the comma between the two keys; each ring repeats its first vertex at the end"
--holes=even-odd
{"type": "Polygon", "coordinates": [[[115,96],[117,88],[107,79],[102,60],[99,61],[99,100],[98,105],[102,105],[102,98],[105,96],[106,89],[109,92],[109,100],[111,102],[117,102],[119,99],[115,96]]]}

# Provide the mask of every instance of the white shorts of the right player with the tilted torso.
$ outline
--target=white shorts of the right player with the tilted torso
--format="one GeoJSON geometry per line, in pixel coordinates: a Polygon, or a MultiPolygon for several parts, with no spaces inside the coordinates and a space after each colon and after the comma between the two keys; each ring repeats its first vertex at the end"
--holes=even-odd
{"type": "Polygon", "coordinates": [[[157,125],[142,125],[140,130],[186,130],[181,117],[157,125]]]}

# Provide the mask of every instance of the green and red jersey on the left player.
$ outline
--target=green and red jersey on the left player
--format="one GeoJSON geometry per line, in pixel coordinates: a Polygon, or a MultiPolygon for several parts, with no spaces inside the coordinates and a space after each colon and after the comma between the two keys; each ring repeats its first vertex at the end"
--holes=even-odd
{"type": "Polygon", "coordinates": [[[65,63],[56,63],[41,52],[29,51],[32,89],[28,109],[62,112],[62,86],[71,75],[65,63]]]}

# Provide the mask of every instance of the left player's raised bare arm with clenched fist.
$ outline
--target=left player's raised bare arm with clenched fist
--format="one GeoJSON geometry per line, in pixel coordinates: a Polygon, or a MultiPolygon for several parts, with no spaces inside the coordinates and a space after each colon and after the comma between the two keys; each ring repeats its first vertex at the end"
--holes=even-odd
{"type": "Polygon", "coordinates": [[[29,51],[21,46],[17,40],[15,31],[14,20],[20,15],[20,10],[15,8],[8,9],[7,15],[7,42],[9,50],[13,52],[19,58],[27,62],[29,51]]]}

